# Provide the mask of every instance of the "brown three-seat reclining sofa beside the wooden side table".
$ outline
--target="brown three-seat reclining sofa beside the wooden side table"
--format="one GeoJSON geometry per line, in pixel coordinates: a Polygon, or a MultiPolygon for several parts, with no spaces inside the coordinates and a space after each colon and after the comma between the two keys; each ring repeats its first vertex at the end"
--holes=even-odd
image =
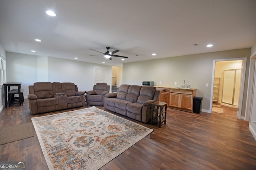
{"type": "Polygon", "coordinates": [[[122,84],[116,93],[105,95],[104,108],[147,123],[151,119],[151,104],[159,94],[160,90],[153,86],[122,84]]]}

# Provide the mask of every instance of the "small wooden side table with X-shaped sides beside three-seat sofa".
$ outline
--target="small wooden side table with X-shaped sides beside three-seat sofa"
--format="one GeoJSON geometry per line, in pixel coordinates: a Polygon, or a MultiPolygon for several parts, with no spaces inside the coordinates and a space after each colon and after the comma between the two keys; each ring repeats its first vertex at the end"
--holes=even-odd
{"type": "Polygon", "coordinates": [[[167,112],[167,103],[165,102],[154,102],[151,105],[151,125],[153,122],[158,123],[159,128],[164,122],[166,124],[166,112],[167,112]]]}

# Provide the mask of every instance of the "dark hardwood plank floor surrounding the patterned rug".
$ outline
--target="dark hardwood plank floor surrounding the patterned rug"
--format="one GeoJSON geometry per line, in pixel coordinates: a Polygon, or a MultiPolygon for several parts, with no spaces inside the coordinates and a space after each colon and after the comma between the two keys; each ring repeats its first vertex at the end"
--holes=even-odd
{"type": "MultiPolygon", "coordinates": [[[[89,106],[76,109],[85,107],[89,106]]],[[[256,169],[256,141],[248,129],[249,123],[237,119],[233,108],[222,108],[224,113],[211,114],[188,113],[168,108],[166,125],[162,124],[161,128],[125,117],[154,131],[100,169],[256,169]]],[[[64,111],[70,110],[74,109],[64,111]]],[[[28,101],[25,99],[23,106],[14,105],[2,110],[0,127],[31,122],[31,117],[28,101]]],[[[27,170],[48,170],[35,131],[34,137],[0,145],[0,161],[26,161],[27,170]]]]}

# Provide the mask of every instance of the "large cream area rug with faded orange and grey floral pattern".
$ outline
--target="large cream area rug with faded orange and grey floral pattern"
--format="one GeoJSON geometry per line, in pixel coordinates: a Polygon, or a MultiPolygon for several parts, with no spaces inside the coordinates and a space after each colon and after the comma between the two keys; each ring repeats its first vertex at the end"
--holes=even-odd
{"type": "Polygon", "coordinates": [[[50,170],[97,170],[153,131],[94,106],[32,122],[50,170]]]}

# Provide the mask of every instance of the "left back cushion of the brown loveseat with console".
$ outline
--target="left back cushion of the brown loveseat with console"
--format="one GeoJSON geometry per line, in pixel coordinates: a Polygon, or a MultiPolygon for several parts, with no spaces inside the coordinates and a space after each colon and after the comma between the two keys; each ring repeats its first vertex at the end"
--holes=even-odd
{"type": "Polygon", "coordinates": [[[38,99],[53,98],[54,92],[51,82],[34,83],[34,92],[38,99]]]}

